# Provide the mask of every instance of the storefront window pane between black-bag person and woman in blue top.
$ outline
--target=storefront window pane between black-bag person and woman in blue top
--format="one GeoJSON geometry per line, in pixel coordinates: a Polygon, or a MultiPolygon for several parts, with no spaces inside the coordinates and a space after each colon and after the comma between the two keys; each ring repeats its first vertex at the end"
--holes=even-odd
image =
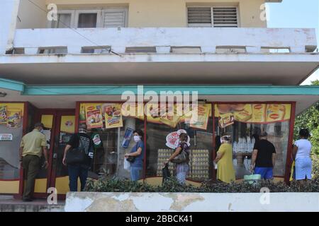
{"type": "Polygon", "coordinates": [[[91,176],[130,178],[130,172],[124,169],[124,155],[135,145],[133,131],[144,130],[144,120],[124,117],[117,103],[83,103],[79,119],[80,124],[88,126],[94,141],[91,176]]]}

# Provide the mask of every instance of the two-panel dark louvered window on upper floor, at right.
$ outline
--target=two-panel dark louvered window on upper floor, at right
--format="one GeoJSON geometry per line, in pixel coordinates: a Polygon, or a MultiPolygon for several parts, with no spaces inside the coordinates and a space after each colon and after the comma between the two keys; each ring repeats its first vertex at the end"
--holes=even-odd
{"type": "Polygon", "coordinates": [[[189,27],[237,28],[237,7],[188,7],[189,27]]]}

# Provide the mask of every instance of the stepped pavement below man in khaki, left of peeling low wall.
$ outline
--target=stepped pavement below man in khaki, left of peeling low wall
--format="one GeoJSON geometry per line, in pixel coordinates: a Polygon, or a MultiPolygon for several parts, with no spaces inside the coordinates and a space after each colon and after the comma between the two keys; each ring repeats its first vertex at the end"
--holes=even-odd
{"type": "Polygon", "coordinates": [[[57,201],[57,205],[49,205],[45,199],[23,202],[13,196],[0,196],[0,212],[64,212],[65,201],[57,201]]]}

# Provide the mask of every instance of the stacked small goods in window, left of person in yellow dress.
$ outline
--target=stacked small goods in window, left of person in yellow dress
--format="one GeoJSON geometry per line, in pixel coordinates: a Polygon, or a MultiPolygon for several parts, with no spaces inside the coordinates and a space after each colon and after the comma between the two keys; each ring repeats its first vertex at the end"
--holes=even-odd
{"type": "Polygon", "coordinates": [[[190,178],[204,180],[209,178],[209,152],[208,150],[192,150],[190,178]]]}

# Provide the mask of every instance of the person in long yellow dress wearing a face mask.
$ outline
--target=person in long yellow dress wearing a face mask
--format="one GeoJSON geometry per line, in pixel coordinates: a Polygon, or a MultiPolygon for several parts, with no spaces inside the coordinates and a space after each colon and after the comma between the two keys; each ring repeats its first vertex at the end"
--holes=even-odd
{"type": "Polygon", "coordinates": [[[233,147],[230,136],[220,138],[220,148],[218,149],[215,163],[217,164],[217,179],[230,183],[235,181],[235,169],[233,166],[233,147]]]}

